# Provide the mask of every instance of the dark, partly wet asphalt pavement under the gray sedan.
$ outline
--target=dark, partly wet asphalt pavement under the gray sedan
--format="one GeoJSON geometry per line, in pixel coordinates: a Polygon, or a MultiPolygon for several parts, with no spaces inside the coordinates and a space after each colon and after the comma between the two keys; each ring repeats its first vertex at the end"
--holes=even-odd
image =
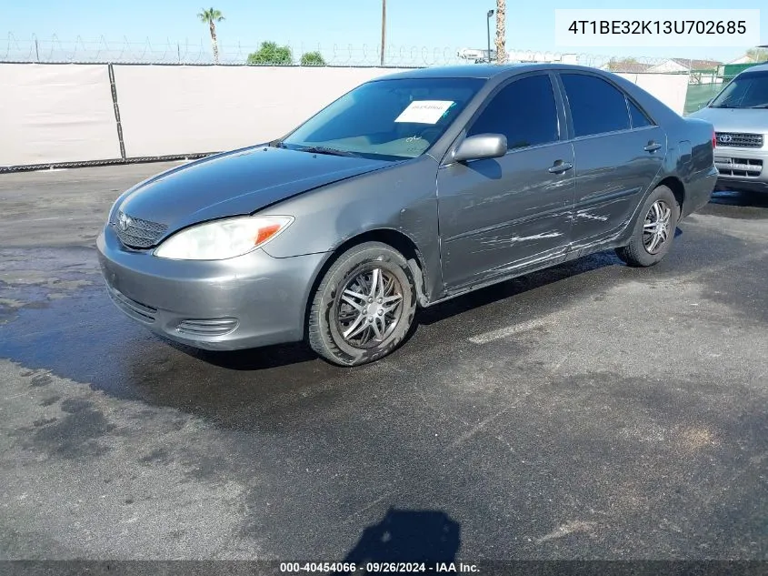
{"type": "Polygon", "coordinates": [[[114,308],[95,235],[163,167],[0,177],[0,558],[341,561],[387,526],[464,561],[768,559],[768,195],[716,193],[657,267],[517,278],[341,369],[114,308]]]}

